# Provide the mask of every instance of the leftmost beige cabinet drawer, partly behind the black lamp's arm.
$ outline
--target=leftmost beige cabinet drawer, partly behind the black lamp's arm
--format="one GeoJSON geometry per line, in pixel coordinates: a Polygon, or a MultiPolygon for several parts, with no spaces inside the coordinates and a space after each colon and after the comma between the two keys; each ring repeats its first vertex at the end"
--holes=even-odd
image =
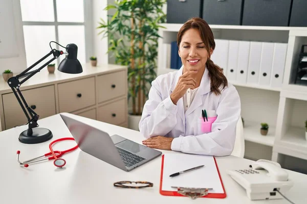
{"type": "MultiPolygon", "coordinates": [[[[23,93],[28,106],[39,115],[39,119],[56,114],[55,91],[53,85],[24,90],[21,91],[21,93],[23,93]]],[[[21,109],[14,93],[4,94],[2,99],[6,129],[28,122],[28,119],[23,109],[21,109]]],[[[39,120],[37,122],[39,124],[39,120]]]]}

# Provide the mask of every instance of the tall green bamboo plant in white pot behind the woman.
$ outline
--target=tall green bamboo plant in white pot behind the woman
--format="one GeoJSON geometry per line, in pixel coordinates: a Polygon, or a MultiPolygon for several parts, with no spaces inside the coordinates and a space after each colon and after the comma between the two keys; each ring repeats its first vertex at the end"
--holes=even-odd
{"type": "Polygon", "coordinates": [[[108,36],[108,53],[115,56],[115,63],[128,67],[129,128],[139,130],[142,108],[148,97],[149,86],[156,79],[159,24],[166,15],[162,11],[165,0],[122,0],[108,5],[115,9],[107,22],[101,19],[99,34],[108,36]]]}

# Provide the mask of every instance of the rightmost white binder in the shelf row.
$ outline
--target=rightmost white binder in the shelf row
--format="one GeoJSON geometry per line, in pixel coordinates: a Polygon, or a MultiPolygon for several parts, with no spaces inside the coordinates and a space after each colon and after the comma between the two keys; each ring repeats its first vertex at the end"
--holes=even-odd
{"type": "Polygon", "coordinates": [[[271,87],[282,87],[284,65],[286,64],[287,43],[275,43],[271,74],[271,87]]]}

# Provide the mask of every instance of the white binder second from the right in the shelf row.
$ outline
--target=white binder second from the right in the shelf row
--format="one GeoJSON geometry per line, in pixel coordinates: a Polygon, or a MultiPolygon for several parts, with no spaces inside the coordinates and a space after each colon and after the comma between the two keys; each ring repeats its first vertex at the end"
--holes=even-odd
{"type": "Polygon", "coordinates": [[[260,74],[259,74],[260,86],[270,86],[271,84],[273,54],[274,54],[274,43],[262,42],[260,74]]]}

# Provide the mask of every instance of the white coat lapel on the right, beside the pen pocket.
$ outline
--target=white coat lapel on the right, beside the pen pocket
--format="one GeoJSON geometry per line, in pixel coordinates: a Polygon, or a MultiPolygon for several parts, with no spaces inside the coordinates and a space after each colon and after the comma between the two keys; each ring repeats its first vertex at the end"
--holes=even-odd
{"type": "MultiPolygon", "coordinates": [[[[191,106],[188,108],[188,110],[186,111],[186,115],[191,114],[196,108],[200,107],[202,104],[204,104],[205,101],[203,101],[203,97],[202,95],[207,94],[210,92],[210,87],[211,87],[211,83],[210,83],[210,79],[208,76],[208,69],[205,69],[205,72],[203,74],[202,77],[202,81],[199,87],[198,92],[196,92],[196,95],[192,101],[191,106]]],[[[201,115],[201,113],[200,113],[201,115]]]]}

